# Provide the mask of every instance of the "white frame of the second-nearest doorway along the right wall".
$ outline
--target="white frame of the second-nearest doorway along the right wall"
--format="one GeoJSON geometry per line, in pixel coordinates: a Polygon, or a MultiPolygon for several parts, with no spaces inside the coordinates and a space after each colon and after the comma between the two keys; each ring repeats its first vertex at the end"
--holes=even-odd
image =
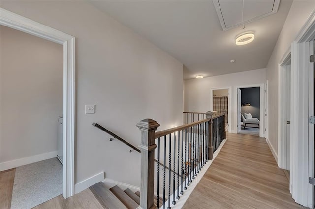
{"type": "MultiPolygon", "coordinates": [[[[286,121],[286,110],[284,107],[285,104],[285,84],[286,84],[286,66],[291,63],[291,49],[288,49],[287,52],[285,52],[284,57],[280,60],[278,64],[278,95],[279,95],[279,101],[278,101],[278,166],[280,168],[287,169],[286,167],[286,145],[287,140],[284,138],[286,136],[285,134],[285,121],[286,121]]],[[[292,81],[292,79],[291,79],[292,81]]],[[[292,105],[293,105],[293,91],[291,86],[290,91],[290,107],[292,112],[292,105]]],[[[291,120],[292,121],[292,120],[291,120]]],[[[291,133],[291,131],[290,131],[291,133]]],[[[291,144],[292,136],[290,134],[290,144],[291,144]]],[[[290,146],[290,161],[291,161],[291,146],[290,146]]]]}

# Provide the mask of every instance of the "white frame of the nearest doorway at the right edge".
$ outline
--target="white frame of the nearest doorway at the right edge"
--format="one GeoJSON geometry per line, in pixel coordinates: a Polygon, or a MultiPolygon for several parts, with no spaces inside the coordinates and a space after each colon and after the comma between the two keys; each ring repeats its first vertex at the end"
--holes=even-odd
{"type": "MultiPolygon", "coordinates": [[[[293,199],[314,208],[314,186],[308,183],[314,165],[314,150],[309,149],[309,42],[315,39],[315,10],[310,14],[291,44],[291,106],[292,162],[290,192],[293,199]],[[294,111],[292,111],[294,109],[294,111]]],[[[312,139],[313,145],[313,139],[312,139]]]]}

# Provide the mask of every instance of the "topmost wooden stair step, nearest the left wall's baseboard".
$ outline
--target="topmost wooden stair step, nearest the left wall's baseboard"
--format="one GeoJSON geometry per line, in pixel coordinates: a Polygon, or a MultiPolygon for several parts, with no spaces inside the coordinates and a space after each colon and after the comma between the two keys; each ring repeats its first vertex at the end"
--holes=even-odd
{"type": "Polygon", "coordinates": [[[102,182],[90,186],[90,190],[105,209],[126,209],[126,206],[102,182]]]}

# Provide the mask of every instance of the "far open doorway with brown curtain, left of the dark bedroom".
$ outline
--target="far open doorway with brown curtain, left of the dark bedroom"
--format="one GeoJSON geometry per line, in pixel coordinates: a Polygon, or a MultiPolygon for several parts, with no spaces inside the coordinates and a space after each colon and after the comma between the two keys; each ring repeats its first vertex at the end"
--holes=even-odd
{"type": "Polygon", "coordinates": [[[231,87],[211,88],[210,110],[225,114],[225,129],[231,132],[231,87]]]}

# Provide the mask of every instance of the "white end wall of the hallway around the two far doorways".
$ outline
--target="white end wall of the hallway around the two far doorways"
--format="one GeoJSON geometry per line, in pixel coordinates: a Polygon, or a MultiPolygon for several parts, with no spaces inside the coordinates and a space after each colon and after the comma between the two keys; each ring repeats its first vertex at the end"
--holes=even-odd
{"type": "Polygon", "coordinates": [[[232,109],[231,127],[236,132],[237,117],[237,88],[266,82],[266,69],[231,73],[221,76],[206,77],[202,79],[185,80],[184,110],[188,112],[206,112],[210,109],[210,89],[221,87],[232,87],[232,109]]]}

